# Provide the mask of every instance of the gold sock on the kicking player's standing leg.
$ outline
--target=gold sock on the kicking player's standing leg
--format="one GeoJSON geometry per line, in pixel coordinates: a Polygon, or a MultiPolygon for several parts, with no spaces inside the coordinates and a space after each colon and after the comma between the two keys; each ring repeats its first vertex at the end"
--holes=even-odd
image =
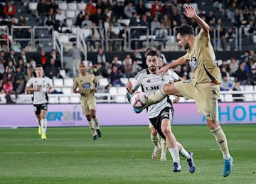
{"type": "Polygon", "coordinates": [[[217,144],[220,147],[220,150],[223,153],[223,155],[229,153],[227,138],[223,130],[221,129],[221,127],[218,126],[218,128],[213,130],[212,133],[213,133],[213,136],[215,136],[217,144]]]}

